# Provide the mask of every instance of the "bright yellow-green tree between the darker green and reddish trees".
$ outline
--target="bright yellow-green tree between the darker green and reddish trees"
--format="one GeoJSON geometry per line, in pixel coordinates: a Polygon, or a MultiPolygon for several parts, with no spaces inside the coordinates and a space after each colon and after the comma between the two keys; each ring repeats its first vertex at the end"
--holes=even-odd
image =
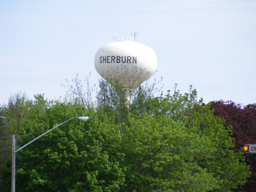
{"type": "Polygon", "coordinates": [[[231,150],[230,127],[201,103],[195,90],[175,90],[153,99],[150,115],[131,114],[123,136],[133,146],[124,148],[130,191],[230,191],[246,182],[248,166],[231,150]]]}

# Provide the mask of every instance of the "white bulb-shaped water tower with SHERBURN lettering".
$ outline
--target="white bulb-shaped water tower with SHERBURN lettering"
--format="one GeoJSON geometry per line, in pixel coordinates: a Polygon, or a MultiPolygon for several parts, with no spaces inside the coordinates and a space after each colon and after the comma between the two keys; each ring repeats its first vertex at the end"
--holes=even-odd
{"type": "Polygon", "coordinates": [[[132,92],[154,74],[157,59],[149,46],[119,37],[117,42],[103,45],[97,51],[94,64],[110,84],[114,79],[119,80],[130,101],[132,92]]]}

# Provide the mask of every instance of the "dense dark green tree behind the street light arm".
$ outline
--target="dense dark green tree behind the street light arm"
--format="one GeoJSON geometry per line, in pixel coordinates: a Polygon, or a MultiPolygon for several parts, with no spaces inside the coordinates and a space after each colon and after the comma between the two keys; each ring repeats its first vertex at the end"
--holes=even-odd
{"type": "MultiPolygon", "coordinates": [[[[20,126],[19,146],[72,117],[90,119],[68,121],[19,151],[16,191],[119,191],[125,166],[119,150],[120,129],[113,119],[102,114],[98,121],[92,109],[46,103],[42,96],[34,101],[35,113],[20,126]]],[[[10,190],[10,170],[9,166],[3,171],[4,191],[10,190]]]]}

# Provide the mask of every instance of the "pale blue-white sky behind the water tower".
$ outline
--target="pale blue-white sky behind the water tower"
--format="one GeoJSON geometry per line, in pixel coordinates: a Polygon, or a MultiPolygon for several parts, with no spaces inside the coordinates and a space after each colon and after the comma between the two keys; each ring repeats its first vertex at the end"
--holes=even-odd
{"type": "Polygon", "coordinates": [[[97,84],[96,51],[130,32],[155,51],[164,90],[256,102],[256,1],[2,0],[0,104],[20,91],[64,96],[75,73],[97,84]]]}

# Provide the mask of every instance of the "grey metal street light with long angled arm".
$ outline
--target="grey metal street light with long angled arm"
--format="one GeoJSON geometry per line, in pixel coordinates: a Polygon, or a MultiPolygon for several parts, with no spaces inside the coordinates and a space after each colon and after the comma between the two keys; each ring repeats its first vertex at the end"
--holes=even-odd
{"type": "MultiPolygon", "coordinates": [[[[82,121],[87,121],[89,119],[89,117],[73,117],[71,119],[77,118],[79,120],[82,121]]],[[[68,119],[67,121],[71,120],[68,119]]],[[[33,139],[31,142],[28,142],[27,144],[25,144],[25,146],[22,146],[21,148],[19,148],[18,150],[16,150],[16,138],[15,135],[13,135],[13,165],[12,165],[12,171],[11,171],[11,192],[15,192],[15,164],[16,164],[16,153],[19,152],[19,150],[23,149],[24,147],[28,146],[30,143],[33,143],[34,141],[36,141],[37,139],[39,139],[40,137],[44,136],[45,134],[49,133],[50,131],[53,131],[54,129],[56,129],[57,127],[67,123],[67,121],[51,128],[50,130],[46,131],[45,133],[43,133],[42,135],[40,135],[39,137],[33,139]]]]}

